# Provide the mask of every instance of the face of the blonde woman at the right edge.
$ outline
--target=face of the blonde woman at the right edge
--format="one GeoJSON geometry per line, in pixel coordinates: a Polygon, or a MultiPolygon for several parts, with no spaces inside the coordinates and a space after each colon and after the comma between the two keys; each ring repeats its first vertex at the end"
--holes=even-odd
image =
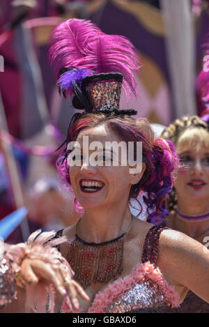
{"type": "Polygon", "coordinates": [[[208,203],[209,197],[209,149],[200,146],[199,150],[188,147],[178,151],[180,162],[187,168],[178,170],[175,187],[178,200],[191,204],[200,200],[200,204],[208,203]],[[189,201],[187,201],[187,199],[189,201]]]}

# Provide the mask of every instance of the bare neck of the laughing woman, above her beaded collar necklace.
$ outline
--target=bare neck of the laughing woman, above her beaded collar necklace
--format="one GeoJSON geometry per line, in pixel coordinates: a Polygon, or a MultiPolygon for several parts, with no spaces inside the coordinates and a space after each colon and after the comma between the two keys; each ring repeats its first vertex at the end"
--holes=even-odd
{"type": "Polygon", "coordinates": [[[86,242],[102,243],[123,234],[131,221],[132,216],[128,206],[88,208],[77,224],[77,234],[86,242]]]}

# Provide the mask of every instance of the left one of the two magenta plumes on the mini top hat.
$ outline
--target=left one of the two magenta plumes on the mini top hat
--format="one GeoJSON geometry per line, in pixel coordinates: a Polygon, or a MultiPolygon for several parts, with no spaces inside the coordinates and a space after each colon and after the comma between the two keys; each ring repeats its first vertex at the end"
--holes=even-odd
{"type": "Polygon", "coordinates": [[[100,33],[102,31],[92,22],[76,18],[54,27],[49,40],[49,61],[57,78],[59,70],[64,67],[89,68],[85,63],[84,48],[100,33]]]}

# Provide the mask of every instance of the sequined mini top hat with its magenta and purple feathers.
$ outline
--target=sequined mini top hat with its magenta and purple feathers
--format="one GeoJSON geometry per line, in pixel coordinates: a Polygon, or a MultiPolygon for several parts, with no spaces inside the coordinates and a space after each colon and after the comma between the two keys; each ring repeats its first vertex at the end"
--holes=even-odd
{"type": "Polygon", "coordinates": [[[118,110],[122,80],[127,100],[131,94],[137,96],[132,70],[138,70],[141,63],[134,46],[124,36],[102,33],[90,21],[70,19],[56,26],[49,60],[59,90],[64,96],[74,96],[72,104],[77,109],[118,110]]]}

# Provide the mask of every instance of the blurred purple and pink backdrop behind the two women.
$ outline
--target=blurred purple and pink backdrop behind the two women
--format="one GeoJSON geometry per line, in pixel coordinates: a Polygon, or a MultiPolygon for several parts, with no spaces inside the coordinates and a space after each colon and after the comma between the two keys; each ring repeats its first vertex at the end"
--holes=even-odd
{"type": "Polygon", "coordinates": [[[0,236],[17,243],[38,228],[58,230],[77,220],[56,176],[62,150],[56,149],[75,109],[59,96],[49,67],[53,26],[84,18],[132,41],[143,64],[139,96],[127,104],[122,93],[121,109],[137,109],[159,134],[183,114],[201,114],[194,85],[208,15],[208,0],[0,1],[0,236]]]}

